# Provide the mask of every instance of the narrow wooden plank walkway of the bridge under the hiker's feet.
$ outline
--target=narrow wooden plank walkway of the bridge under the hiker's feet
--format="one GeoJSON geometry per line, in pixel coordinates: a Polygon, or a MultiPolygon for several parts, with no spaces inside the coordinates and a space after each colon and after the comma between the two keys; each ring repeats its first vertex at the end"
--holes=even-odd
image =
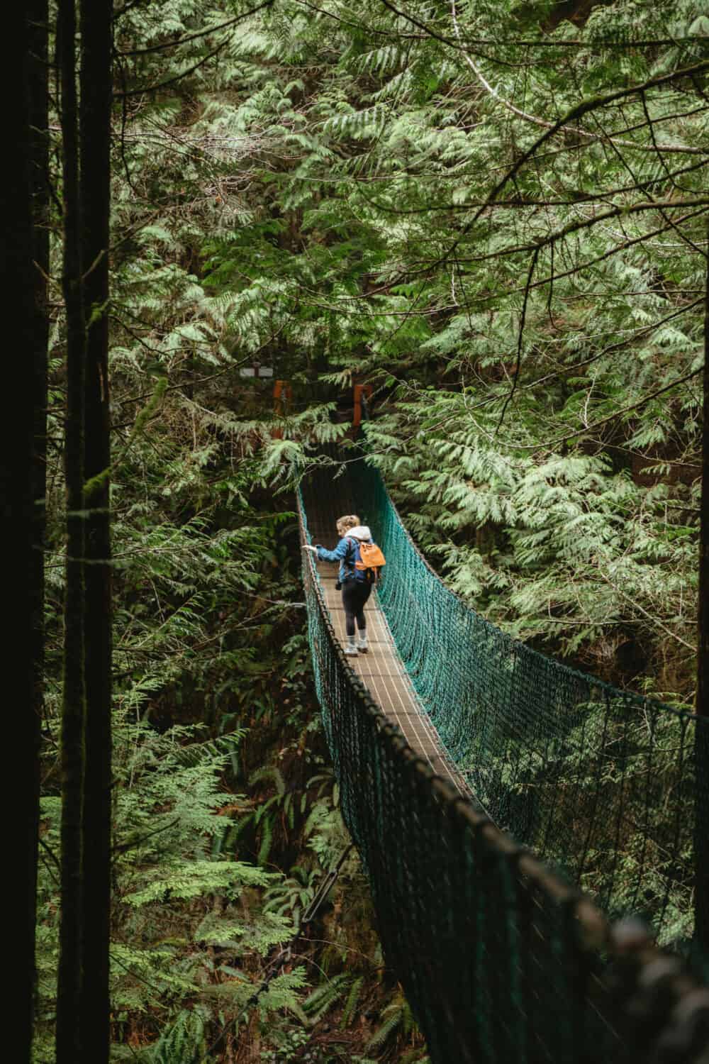
{"type": "MultiPolygon", "coordinates": [[[[339,485],[333,482],[332,470],[328,472],[326,486],[325,483],[319,484],[321,478],[316,473],[309,484],[304,486],[303,497],[313,542],[332,549],[338,539],[335,528],[337,518],[342,514],[356,513],[356,509],[353,509],[352,499],[338,492],[339,485]]],[[[342,598],[335,591],[337,570],[338,566],[333,563],[318,562],[318,572],[335,632],[344,643],[342,598]]],[[[395,579],[393,573],[391,579],[395,579]]],[[[377,602],[376,592],[372,592],[365,612],[370,649],[366,654],[349,658],[350,666],[386,716],[401,729],[416,753],[424,758],[438,776],[442,776],[461,794],[470,796],[468,784],[445,754],[438,733],[421,709],[377,602]]]]}

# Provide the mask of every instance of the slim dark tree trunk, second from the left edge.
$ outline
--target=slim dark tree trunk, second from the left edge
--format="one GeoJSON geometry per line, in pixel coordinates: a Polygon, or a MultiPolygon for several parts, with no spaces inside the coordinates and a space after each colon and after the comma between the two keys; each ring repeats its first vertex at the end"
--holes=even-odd
{"type": "Polygon", "coordinates": [[[63,288],[67,318],[65,468],[67,564],[62,706],[62,916],[56,1002],[56,1062],[81,1060],[82,814],[84,794],[84,379],[85,340],[79,214],[79,138],[74,0],[58,0],[64,186],[63,288]]]}

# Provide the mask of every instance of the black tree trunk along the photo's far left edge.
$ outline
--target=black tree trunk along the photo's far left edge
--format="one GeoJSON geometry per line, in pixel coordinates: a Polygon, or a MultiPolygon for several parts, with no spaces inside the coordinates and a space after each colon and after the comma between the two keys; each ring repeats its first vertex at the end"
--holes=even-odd
{"type": "MultiPolygon", "coordinates": [[[[12,355],[5,359],[5,394],[12,413],[3,418],[0,455],[0,498],[3,509],[4,700],[9,708],[10,747],[14,766],[13,801],[19,816],[14,837],[13,874],[9,877],[10,912],[18,921],[13,935],[13,977],[5,1003],[13,1019],[19,1061],[31,1057],[34,1000],[35,898],[37,867],[37,747],[35,704],[35,551],[33,550],[33,436],[35,423],[35,303],[34,237],[31,206],[32,135],[30,130],[30,54],[27,9],[11,4],[4,14],[5,39],[17,64],[2,66],[2,93],[12,100],[4,116],[4,133],[12,145],[0,177],[3,207],[3,253],[0,255],[2,293],[12,330],[12,355]],[[12,712],[10,712],[12,710],[12,712]],[[16,858],[16,860],[15,860],[16,858]]],[[[11,829],[11,836],[13,831],[11,829]]]]}

